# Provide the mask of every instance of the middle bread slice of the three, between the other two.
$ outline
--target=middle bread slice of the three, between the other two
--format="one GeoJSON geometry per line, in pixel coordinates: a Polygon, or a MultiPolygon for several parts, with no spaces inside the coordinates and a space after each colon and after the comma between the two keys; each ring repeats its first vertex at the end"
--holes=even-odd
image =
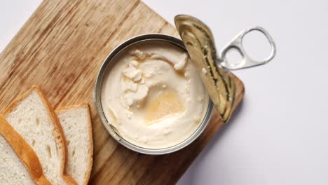
{"type": "Polygon", "coordinates": [[[11,102],[4,117],[38,156],[52,184],[76,184],[66,175],[67,146],[57,115],[38,87],[32,86],[11,102]]]}

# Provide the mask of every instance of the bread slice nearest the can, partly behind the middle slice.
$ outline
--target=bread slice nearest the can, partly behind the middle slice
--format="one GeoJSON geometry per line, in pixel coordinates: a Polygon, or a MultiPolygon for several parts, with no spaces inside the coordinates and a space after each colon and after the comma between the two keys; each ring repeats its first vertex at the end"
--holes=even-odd
{"type": "Polygon", "coordinates": [[[67,139],[67,173],[78,184],[88,184],[93,166],[93,131],[88,104],[55,110],[67,139]]]}

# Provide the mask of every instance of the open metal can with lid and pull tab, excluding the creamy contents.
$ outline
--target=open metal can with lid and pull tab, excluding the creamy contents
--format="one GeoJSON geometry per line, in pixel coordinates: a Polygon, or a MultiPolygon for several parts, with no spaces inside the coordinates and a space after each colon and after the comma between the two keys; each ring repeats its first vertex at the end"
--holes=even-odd
{"type": "Polygon", "coordinates": [[[102,64],[102,67],[100,68],[99,74],[97,75],[93,98],[98,115],[100,116],[100,120],[109,134],[114,137],[116,141],[132,151],[150,155],[160,155],[183,149],[191,144],[191,142],[193,142],[203,132],[203,130],[205,130],[207,124],[212,118],[214,107],[217,108],[221,120],[224,122],[228,121],[231,117],[232,107],[235,102],[235,82],[229,70],[243,69],[265,64],[272,60],[275,56],[275,43],[268,32],[261,27],[253,27],[243,30],[230,43],[228,43],[228,45],[226,45],[217,56],[217,50],[214,46],[212,33],[203,22],[200,22],[200,20],[197,20],[189,15],[178,15],[175,18],[175,25],[182,40],[166,34],[144,34],[135,36],[132,39],[128,39],[128,41],[121,43],[107,56],[102,64]],[[248,57],[247,53],[245,53],[244,48],[242,48],[243,36],[253,30],[262,32],[268,39],[269,43],[271,43],[271,55],[263,61],[252,60],[252,58],[248,57]],[[104,76],[107,69],[114,65],[114,58],[130,46],[152,41],[170,43],[189,53],[191,61],[195,64],[198,74],[200,74],[200,78],[202,78],[203,84],[205,85],[207,93],[210,95],[205,116],[203,116],[203,119],[196,131],[183,142],[163,149],[144,148],[132,144],[121,137],[121,135],[116,132],[115,128],[111,126],[111,123],[109,123],[106,118],[101,101],[104,76]],[[243,60],[239,64],[230,64],[225,60],[226,52],[231,48],[237,49],[242,55],[243,60]]]}

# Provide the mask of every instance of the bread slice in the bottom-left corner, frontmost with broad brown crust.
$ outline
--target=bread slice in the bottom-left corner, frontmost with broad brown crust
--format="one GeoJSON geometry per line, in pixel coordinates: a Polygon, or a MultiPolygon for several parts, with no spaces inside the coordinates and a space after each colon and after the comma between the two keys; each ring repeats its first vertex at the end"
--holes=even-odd
{"type": "Polygon", "coordinates": [[[34,182],[50,184],[31,146],[0,116],[0,184],[34,182]]]}

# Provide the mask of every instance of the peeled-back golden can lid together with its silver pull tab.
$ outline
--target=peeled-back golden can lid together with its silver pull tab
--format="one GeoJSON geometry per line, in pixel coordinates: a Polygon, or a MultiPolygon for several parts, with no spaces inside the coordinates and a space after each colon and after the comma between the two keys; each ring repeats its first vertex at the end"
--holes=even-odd
{"type": "Polygon", "coordinates": [[[175,26],[181,36],[184,46],[191,60],[196,65],[198,74],[207,89],[212,102],[219,111],[221,120],[226,122],[231,117],[235,102],[235,80],[228,69],[244,69],[266,64],[273,59],[276,53],[275,43],[271,36],[261,27],[245,29],[228,43],[219,57],[214,45],[214,38],[210,29],[200,20],[189,15],[175,16],[175,26]],[[259,31],[266,36],[271,44],[271,54],[264,60],[252,60],[242,47],[242,38],[252,31],[259,31]],[[225,60],[225,55],[231,48],[237,49],[242,55],[242,61],[231,64],[225,60]]]}

